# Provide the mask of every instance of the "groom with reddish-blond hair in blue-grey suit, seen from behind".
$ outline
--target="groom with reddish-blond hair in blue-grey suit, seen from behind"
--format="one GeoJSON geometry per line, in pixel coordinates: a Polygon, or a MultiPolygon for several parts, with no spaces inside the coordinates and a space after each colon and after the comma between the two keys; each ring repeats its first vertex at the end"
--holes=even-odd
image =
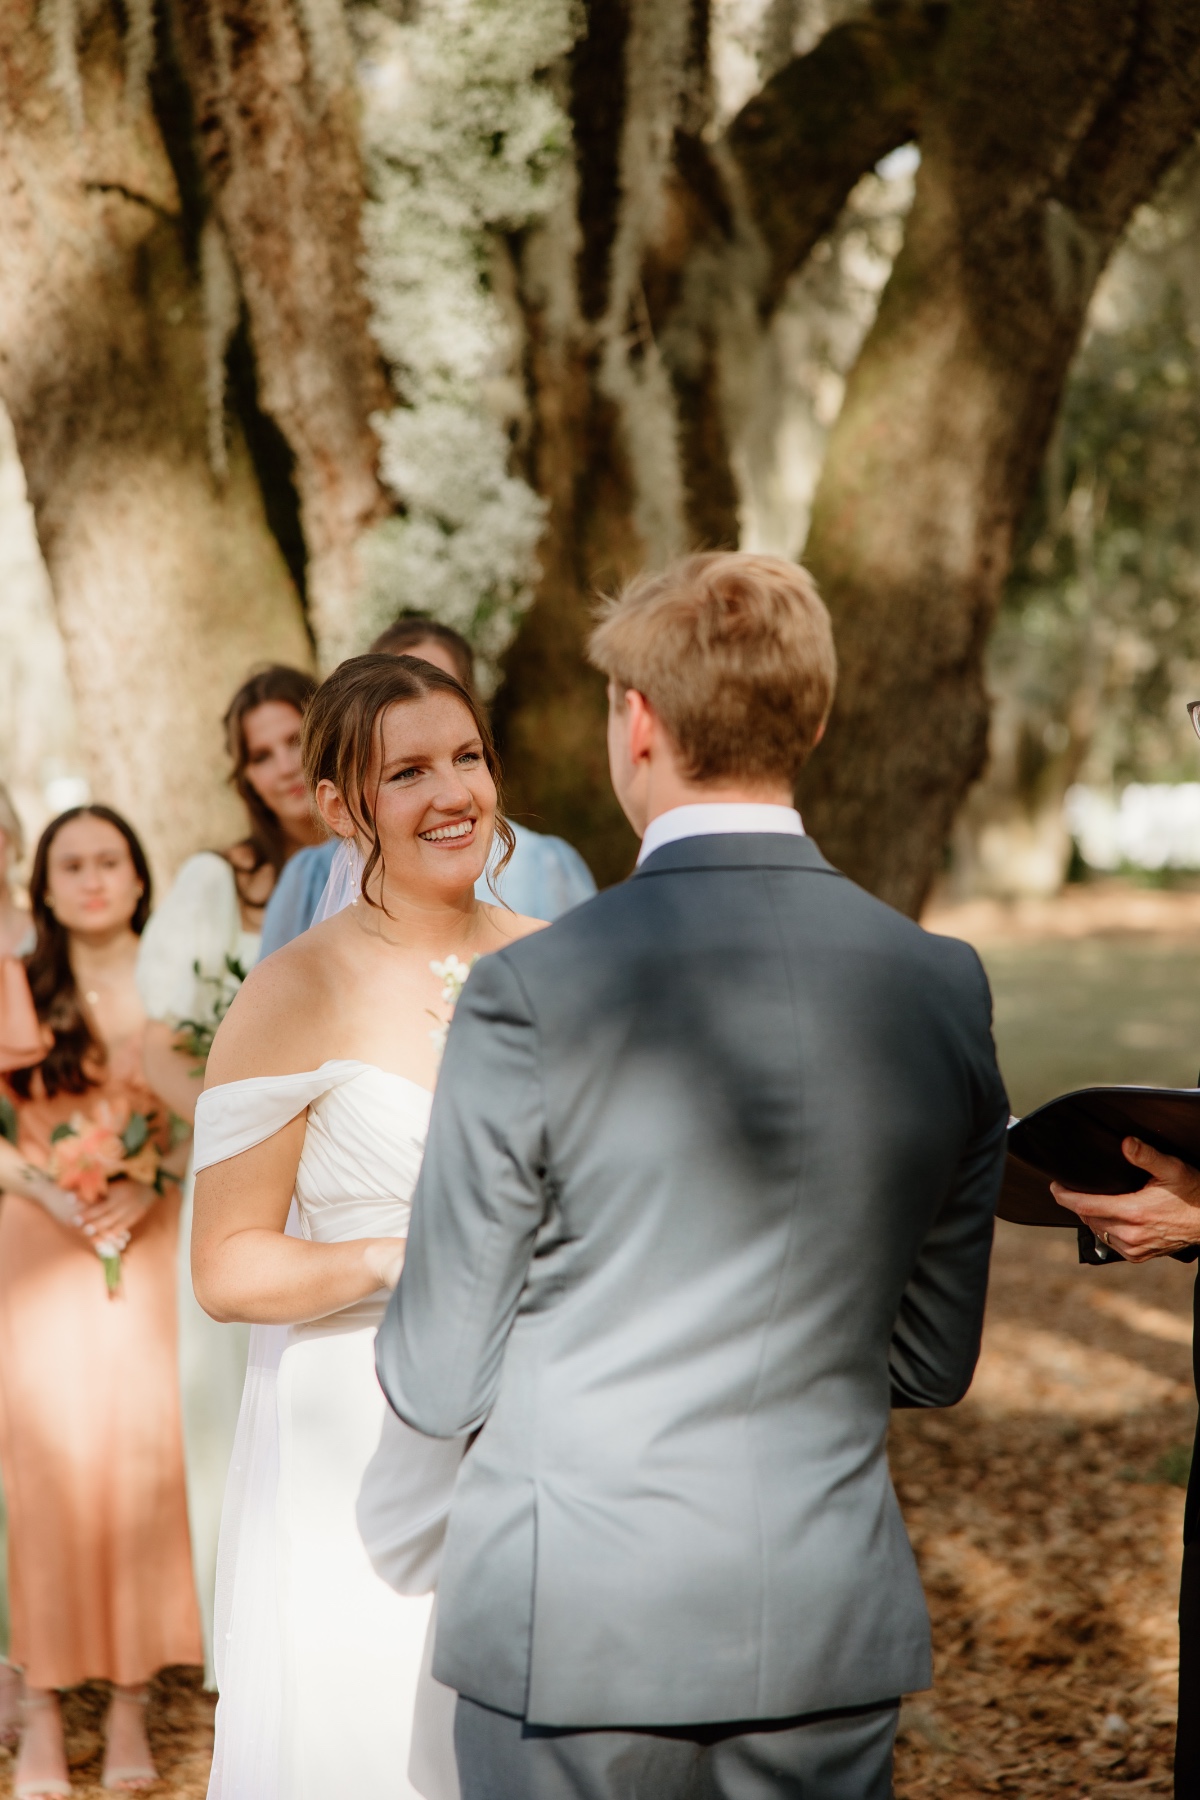
{"type": "Polygon", "coordinates": [[[590,653],[637,873],[475,967],[378,1339],[401,1418],[479,1431],[434,1658],[462,1800],[885,1800],[930,1681],[889,1404],[975,1368],[988,983],[804,837],[802,569],[691,556],[590,653]]]}

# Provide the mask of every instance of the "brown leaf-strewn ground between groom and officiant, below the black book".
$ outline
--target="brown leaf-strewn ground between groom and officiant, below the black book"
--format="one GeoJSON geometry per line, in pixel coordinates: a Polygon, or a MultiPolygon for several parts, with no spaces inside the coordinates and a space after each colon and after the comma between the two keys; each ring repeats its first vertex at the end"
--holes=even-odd
{"type": "Polygon", "coordinates": [[[1191,1271],[1072,1256],[1002,1226],[972,1393],[894,1422],[936,1645],[900,1800],[1171,1791],[1191,1271]]]}

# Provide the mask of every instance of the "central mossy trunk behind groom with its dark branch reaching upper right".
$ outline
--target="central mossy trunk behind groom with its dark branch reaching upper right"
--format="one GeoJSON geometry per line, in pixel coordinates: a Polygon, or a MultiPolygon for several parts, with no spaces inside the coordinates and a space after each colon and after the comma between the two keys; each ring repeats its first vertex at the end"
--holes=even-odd
{"type": "Polygon", "coordinates": [[[738,544],[727,335],[747,313],[761,328],[855,182],[912,137],[936,40],[925,11],[837,27],[712,146],[703,0],[588,5],[570,211],[518,247],[529,479],[551,517],[497,722],[518,817],[581,844],[601,880],[628,871],[635,841],[583,655],[597,594],[646,562],[738,544]]]}

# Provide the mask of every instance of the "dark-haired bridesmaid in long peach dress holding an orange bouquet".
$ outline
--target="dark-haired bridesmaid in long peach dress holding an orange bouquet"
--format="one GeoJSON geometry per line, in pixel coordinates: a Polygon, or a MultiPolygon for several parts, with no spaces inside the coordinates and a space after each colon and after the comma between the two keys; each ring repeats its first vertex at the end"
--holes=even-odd
{"type": "Polygon", "coordinates": [[[27,985],[9,961],[0,1019],[0,1465],[27,1796],[68,1793],[56,1690],[86,1679],[113,1683],[106,1786],[155,1782],[146,1683],[201,1654],[176,1364],[180,1199],[164,1179],[185,1147],[173,1150],[169,1105],[142,1075],[135,968],[151,884],[133,830],[106,806],[61,814],[38,844],[31,900],[27,985]],[[115,1294],[101,1247],[119,1253],[115,1294]]]}

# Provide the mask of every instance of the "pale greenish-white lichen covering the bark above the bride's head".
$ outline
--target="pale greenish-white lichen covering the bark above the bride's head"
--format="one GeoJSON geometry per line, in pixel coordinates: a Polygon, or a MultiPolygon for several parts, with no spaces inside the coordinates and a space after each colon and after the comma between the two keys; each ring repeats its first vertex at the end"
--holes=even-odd
{"type": "Polygon", "coordinates": [[[369,202],[365,284],[398,405],[374,419],[399,513],[363,547],[363,630],[401,607],[466,632],[484,668],[536,580],[545,502],[513,466],[520,313],[506,239],[558,203],[570,122],[549,68],[570,0],[353,11],[369,202]]]}

